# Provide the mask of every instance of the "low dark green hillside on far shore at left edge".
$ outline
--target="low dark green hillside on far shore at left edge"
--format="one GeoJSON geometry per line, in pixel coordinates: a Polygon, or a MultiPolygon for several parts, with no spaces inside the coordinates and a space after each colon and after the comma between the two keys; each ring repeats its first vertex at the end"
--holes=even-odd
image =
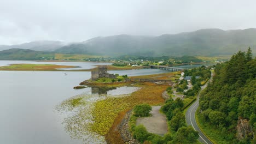
{"type": "Polygon", "coordinates": [[[36,60],[53,58],[53,52],[42,52],[24,49],[9,49],[0,51],[0,59],[36,60]]]}

